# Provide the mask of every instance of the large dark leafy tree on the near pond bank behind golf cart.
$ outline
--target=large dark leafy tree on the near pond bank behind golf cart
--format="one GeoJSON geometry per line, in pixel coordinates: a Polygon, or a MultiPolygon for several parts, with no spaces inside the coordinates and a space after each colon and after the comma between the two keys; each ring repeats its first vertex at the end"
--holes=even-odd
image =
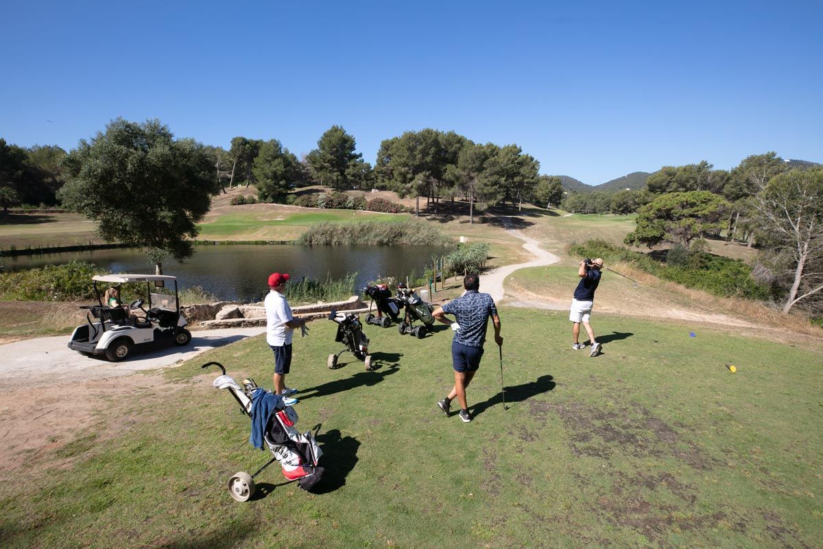
{"type": "Polygon", "coordinates": [[[168,126],[149,119],[115,119],[65,159],[63,204],[98,221],[108,242],[147,249],[162,272],[168,254],[193,254],[191,237],[216,190],[212,159],[193,139],[175,140],[168,126]]]}

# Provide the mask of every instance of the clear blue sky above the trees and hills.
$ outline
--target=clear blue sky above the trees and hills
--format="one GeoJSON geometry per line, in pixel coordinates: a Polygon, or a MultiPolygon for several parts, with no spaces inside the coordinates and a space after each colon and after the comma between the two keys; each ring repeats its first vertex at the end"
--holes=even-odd
{"type": "Polygon", "coordinates": [[[600,184],[750,154],[823,161],[823,2],[4,2],[0,137],[67,150],[159,118],[374,163],[407,130],[517,143],[600,184]],[[568,5],[561,5],[568,4],[568,5]],[[50,121],[50,122],[49,122],[50,121]]]}

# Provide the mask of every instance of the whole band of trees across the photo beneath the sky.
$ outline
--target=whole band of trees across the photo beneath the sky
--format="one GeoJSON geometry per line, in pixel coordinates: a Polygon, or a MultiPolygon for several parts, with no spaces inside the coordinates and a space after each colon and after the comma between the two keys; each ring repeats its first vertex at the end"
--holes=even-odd
{"type": "Polygon", "coordinates": [[[235,137],[230,149],[174,139],[159,120],[113,120],[67,153],[60,147],[17,147],[0,138],[0,205],[62,203],[100,221],[105,240],[146,247],[158,269],[169,254],[191,254],[188,239],[211,195],[254,184],[263,202],[285,202],[296,187],[386,188],[425,198],[430,210],[455,198],[476,207],[560,205],[569,212],[637,212],[633,245],[665,241],[689,247],[704,235],[760,246],[760,279],[784,288],[783,310],[823,304],[823,169],[791,169],[774,152],[748,156],[732,170],[707,161],[664,166],[640,190],[566,193],[560,179],[516,144],[476,143],[426,128],[380,144],[374,166],[356,141],[332,126],[298,159],[277,139],[235,137]],[[819,303],[818,303],[819,302],[819,303]]]}

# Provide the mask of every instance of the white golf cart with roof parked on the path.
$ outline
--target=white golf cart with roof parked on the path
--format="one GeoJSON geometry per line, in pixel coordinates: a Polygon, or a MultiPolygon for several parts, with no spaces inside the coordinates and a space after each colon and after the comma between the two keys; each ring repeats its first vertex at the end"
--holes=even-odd
{"type": "Polygon", "coordinates": [[[105,355],[109,361],[122,361],[134,347],[150,347],[162,343],[188,345],[192,334],[184,328],[186,319],[180,314],[177,279],[164,275],[117,274],[97,275],[91,278],[98,305],[83,305],[87,309],[86,323],[74,328],[68,348],[85,355],[105,355]],[[151,292],[151,285],[165,287],[174,282],[174,295],[151,292]],[[134,300],[128,309],[109,307],[100,297],[98,282],[120,285],[146,282],[148,310],[144,300],[134,300]],[[141,315],[142,314],[142,315],[141,315]]]}

